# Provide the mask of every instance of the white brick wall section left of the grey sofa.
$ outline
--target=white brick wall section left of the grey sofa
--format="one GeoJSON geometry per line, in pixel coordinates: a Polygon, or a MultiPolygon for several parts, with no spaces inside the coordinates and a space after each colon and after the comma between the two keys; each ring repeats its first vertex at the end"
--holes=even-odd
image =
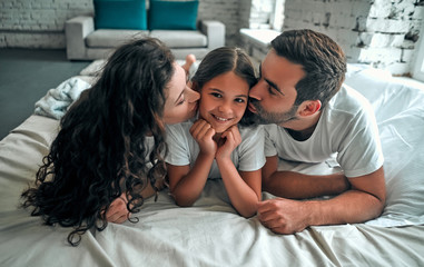
{"type": "Polygon", "coordinates": [[[65,21],[92,13],[92,0],[1,0],[0,47],[65,48],[65,21]]]}

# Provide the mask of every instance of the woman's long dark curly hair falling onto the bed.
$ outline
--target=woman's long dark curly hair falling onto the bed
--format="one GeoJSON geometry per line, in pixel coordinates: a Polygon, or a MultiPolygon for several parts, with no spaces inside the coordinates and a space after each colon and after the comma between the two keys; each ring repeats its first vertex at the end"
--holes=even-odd
{"type": "Polygon", "coordinates": [[[72,246],[88,229],[106,228],[106,211],[124,190],[127,208],[137,212],[140,191],[148,184],[156,188],[156,179],[166,175],[161,118],[174,61],[157,39],[119,47],[98,81],[61,119],[36,187],[22,192],[22,206],[33,206],[31,215],[46,225],[73,227],[68,236],[72,246]],[[152,149],[147,135],[154,136],[152,149]]]}

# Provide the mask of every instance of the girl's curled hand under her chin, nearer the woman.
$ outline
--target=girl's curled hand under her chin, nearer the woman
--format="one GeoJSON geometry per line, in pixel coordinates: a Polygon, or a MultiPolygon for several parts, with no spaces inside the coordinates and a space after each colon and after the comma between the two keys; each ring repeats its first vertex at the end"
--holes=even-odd
{"type": "Polygon", "coordinates": [[[204,119],[197,120],[191,126],[190,134],[197,144],[199,144],[200,152],[215,157],[217,150],[217,145],[213,139],[215,130],[209,122],[204,119]]]}

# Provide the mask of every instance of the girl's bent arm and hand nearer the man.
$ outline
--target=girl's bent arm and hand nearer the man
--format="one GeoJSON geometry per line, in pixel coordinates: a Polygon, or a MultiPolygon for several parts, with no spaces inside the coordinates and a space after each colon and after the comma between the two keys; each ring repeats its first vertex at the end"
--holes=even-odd
{"type": "Polygon", "coordinates": [[[219,146],[216,161],[229,199],[236,210],[248,218],[256,214],[260,201],[262,170],[238,172],[230,158],[231,151],[241,142],[237,126],[223,134],[224,144],[219,146]]]}

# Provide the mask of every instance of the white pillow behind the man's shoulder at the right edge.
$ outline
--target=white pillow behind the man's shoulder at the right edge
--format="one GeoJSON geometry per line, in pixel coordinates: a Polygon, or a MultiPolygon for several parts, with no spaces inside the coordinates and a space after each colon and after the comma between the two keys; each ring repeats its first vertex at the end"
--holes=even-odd
{"type": "Polygon", "coordinates": [[[385,159],[386,207],[367,224],[424,224],[424,87],[376,69],[351,72],[345,83],[372,103],[385,159]]]}

